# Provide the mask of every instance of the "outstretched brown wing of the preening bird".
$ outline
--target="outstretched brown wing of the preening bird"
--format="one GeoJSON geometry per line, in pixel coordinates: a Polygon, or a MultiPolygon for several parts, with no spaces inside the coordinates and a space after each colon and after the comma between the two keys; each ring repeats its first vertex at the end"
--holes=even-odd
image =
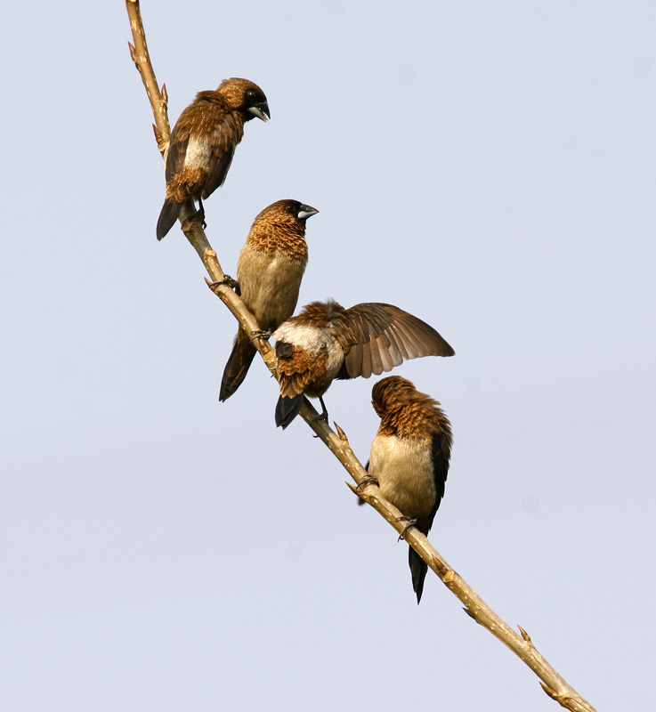
{"type": "Polygon", "coordinates": [[[382,303],[362,303],[346,312],[344,368],[338,378],[368,378],[420,356],[453,356],[449,344],[425,321],[382,303]]]}

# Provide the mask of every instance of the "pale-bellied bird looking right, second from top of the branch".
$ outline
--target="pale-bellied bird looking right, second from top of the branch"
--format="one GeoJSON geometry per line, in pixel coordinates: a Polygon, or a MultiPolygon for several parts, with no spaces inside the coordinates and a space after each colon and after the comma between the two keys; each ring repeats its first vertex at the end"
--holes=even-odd
{"type": "MultiPolygon", "coordinates": [[[[279,200],[257,215],[237,263],[239,292],[253,312],[258,336],[271,332],[296,308],[298,290],[307,264],[305,221],[319,213],[298,200],[279,200]]],[[[239,327],[223,370],[219,401],[231,397],[247,375],[255,346],[239,327]]]]}

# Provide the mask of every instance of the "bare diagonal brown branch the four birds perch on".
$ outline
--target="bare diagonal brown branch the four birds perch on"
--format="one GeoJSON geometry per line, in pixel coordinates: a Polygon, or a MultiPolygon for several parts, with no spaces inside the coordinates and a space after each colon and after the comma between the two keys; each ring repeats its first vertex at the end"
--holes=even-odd
{"type": "MultiPolygon", "coordinates": [[[[162,91],[160,92],[155,78],[155,72],[150,63],[146,36],[143,31],[139,0],[126,0],[126,6],[134,37],[134,45],[130,44],[130,54],[146,87],[150,105],[155,116],[155,125],[153,128],[155,129],[155,136],[158,141],[158,149],[164,155],[171,135],[166,113],[166,85],[162,86],[162,91]]],[[[230,287],[221,284],[225,275],[223,274],[215,251],[207,241],[205,231],[198,222],[192,219],[190,220],[189,218],[190,211],[186,209],[186,206],[183,206],[181,211],[182,231],[198,252],[198,256],[203,261],[203,264],[205,264],[207,272],[211,277],[211,281],[206,279],[207,285],[215,292],[215,295],[225,303],[233,316],[239,321],[239,324],[246,330],[247,334],[257,331],[258,325],[253,314],[248,311],[246,305],[230,287]]],[[[253,337],[253,344],[260,352],[267,368],[269,368],[271,373],[275,376],[275,357],[270,344],[259,337],[253,337]]],[[[356,484],[360,484],[360,482],[367,477],[367,472],[361,465],[360,460],[355,457],[349,445],[349,441],[339,425],[335,424],[337,431],[337,433],[335,433],[327,423],[317,419],[318,413],[312,408],[312,405],[307,399],[304,401],[300,415],[304,418],[304,421],[310,425],[314,433],[319,436],[320,440],[328,446],[328,449],[331,450],[340,463],[344,465],[344,468],[352,476],[356,484]]],[[[351,490],[356,491],[356,488],[353,487],[352,484],[348,482],[346,484],[351,490]]],[[[401,534],[404,528],[404,522],[401,520],[401,512],[381,496],[377,485],[369,483],[365,485],[362,490],[358,490],[357,494],[401,534]]],[[[474,589],[449,566],[441,557],[441,554],[439,554],[430,541],[428,541],[419,530],[410,527],[403,534],[403,538],[405,538],[409,545],[412,546],[417,554],[428,564],[429,568],[441,578],[442,583],[464,603],[466,613],[477,623],[480,623],[482,627],[487,628],[492,635],[497,637],[498,640],[510,648],[515,655],[530,667],[541,680],[540,684],[542,689],[547,692],[549,697],[560,703],[563,708],[570,709],[571,712],[596,712],[595,708],[584,700],[570,684],[565,682],[563,677],[555,671],[554,667],[551,667],[547,660],[540,655],[530,640],[530,635],[526,633],[521,626],[518,626],[520,633],[515,633],[503,619],[500,619],[498,615],[490,609],[490,606],[476,594],[474,589]]]]}

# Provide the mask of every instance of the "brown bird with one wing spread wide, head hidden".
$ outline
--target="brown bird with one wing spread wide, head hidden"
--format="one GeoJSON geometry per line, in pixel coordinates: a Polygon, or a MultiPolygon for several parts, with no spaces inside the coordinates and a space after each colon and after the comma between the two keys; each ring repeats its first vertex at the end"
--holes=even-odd
{"type": "Polygon", "coordinates": [[[307,304],[273,332],[280,397],[276,425],[284,430],[301,409],[304,395],[319,398],[335,378],[368,378],[419,356],[453,356],[446,341],[425,321],[392,304],[307,304]]]}

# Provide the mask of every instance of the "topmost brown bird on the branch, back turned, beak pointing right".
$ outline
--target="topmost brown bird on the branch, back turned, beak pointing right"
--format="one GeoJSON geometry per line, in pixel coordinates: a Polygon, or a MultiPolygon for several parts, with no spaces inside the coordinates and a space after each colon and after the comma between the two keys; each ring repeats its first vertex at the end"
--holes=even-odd
{"type": "Polygon", "coordinates": [[[237,77],[223,79],[215,91],[198,92],[182,111],[166,154],[166,199],[158,239],[174,226],[187,200],[198,200],[197,214],[205,221],[203,200],[223,185],[244,124],[255,117],[271,118],[266,96],[258,85],[237,77]]]}

